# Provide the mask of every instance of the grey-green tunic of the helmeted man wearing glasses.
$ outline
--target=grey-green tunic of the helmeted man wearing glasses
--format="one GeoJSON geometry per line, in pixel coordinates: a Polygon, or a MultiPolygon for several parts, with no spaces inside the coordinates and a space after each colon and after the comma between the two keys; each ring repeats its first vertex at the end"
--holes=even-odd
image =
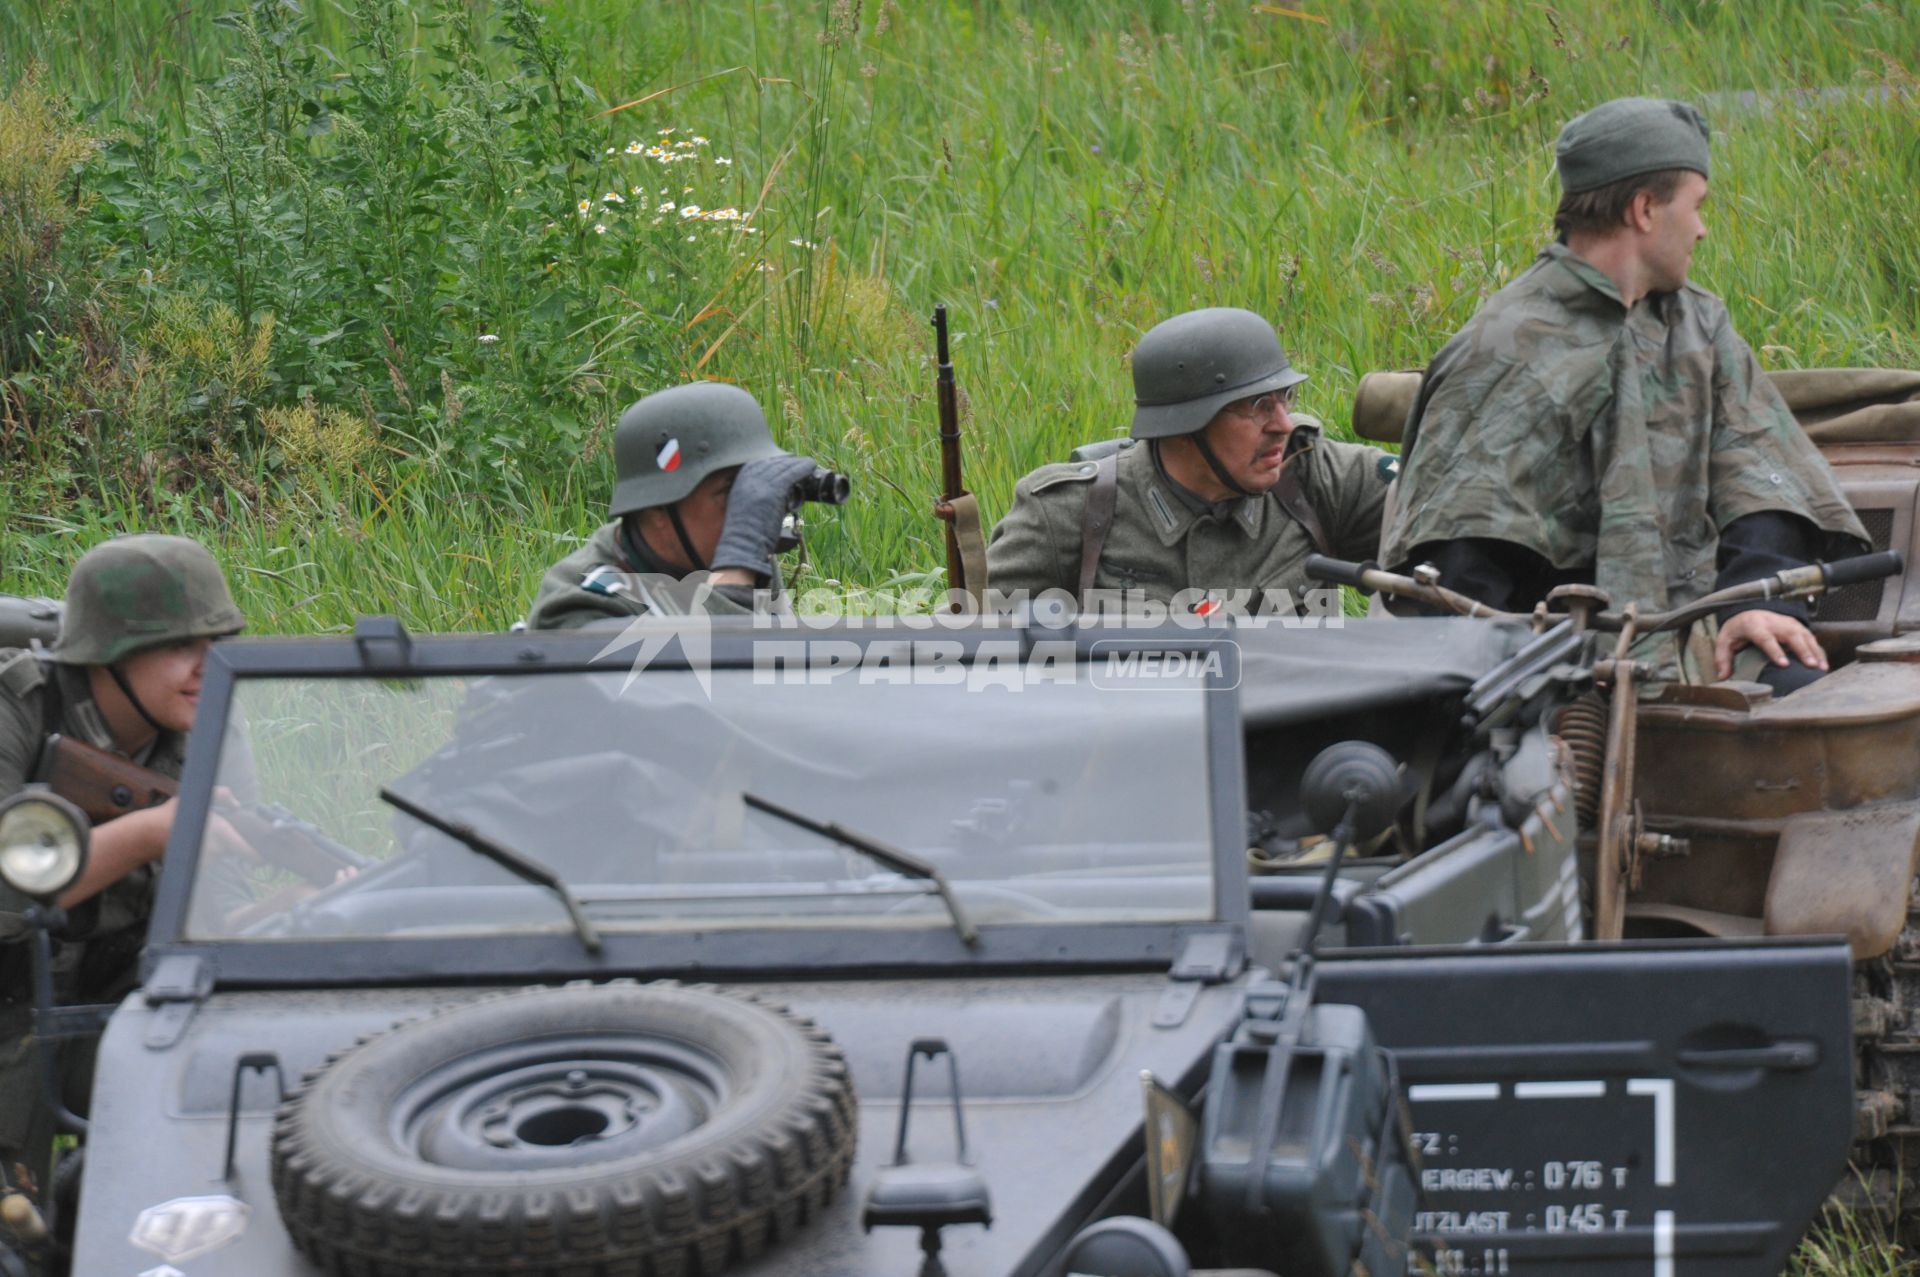
{"type": "MultiPolygon", "coordinates": [[[[1319,438],[1288,465],[1340,559],[1371,559],[1392,457],[1379,447],[1319,438]]],[[[1313,538],[1271,492],[1208,503],[1160,469],[1148,444],[1119,453],[1114,526],[1100,553],[1094,590],[1139,590],[1167,603],[1183,590],[1279,591],[1298,597],[1313,538]]],[[[1081,526],[1094,463],[1033,470],[1014,488],[1014,509],[993,530],[987,582],[995,591],[1079,588],[1081,526]]]]}

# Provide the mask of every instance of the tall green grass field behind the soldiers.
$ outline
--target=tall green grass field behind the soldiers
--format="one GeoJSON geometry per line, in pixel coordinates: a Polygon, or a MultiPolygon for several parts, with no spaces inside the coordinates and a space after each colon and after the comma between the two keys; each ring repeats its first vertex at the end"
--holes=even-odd
{"type": "MultiPolygon", "coordinates": [[[[69,455],[48,476],[0,451],[0,505],[15,507],[0,511],[0,588],[58,591],[92,538],[167,526],[217,545],[261,630],[338,628],[367,611],[422,628],[499,626],[595,522],[620,405],[684,376],[737,380],[789,447],[854,478],[852,505],[812,518],[803,582],[874,590],[925,574],[941,563],[927,515],[933,301],[954,309],[968,482],[989,517],[1027,469],[1125,428],[1127,349],[1194,305],[1273,317],[1313,374],[1306,405],[1340,430],[1359,374],[1419,367],[1532,259],[1555,196],[1555,131],[1626,92],[1709,109],[1716,171],[1695,278],[1728,300],[1768,365],[1920,365],[1912,6],[580,0],[536,12],[559,61],[532,86],[515,79],[524,56],[499,42],[513,35],[505,13],[453,6],[474,23],[468,73],[518,84],[488,94],[472,81],[461,88],[447,6],[386,8],[394,48],[382,56],[390,75],[411,77],[394,106],[417,121],[401,142],[442,138],[428,142],[447,152],[434,161],[495,211],[463,221],[449,192],[432,188],[328,223],[349,234],[384,227],[413,292],[396,303],[342,284],[276,315],[261,401],[234,407],[227,451],[202,453],[215,459],[188,474],[163,457],[90,470],[69,455]],[[511,106],[541,79],[551,142],[522,131],[495,156],[484,136],[419,123],[461,92],[511,106]],[[733,163],[662,169],[626,156],[660,129],[707,136],[733,163]],[[518,173],[518,192],[486,188],[490,161],[524,169],[534,157],[545,167],[518,173]],[[697,182],[678,181],[693,171],[697,182]],[[611,219],[595,205],[605,234],[582,227],[574,200],[636,184],[676,198],[695,184],[707,207],[756,209],[758,234],[687,246],[664,234],[678,227],[653,229],[632,205],[611,219]],[[528,204],[534,188],[540,207],[528,204]],[[442,252],[413,234],[428,225],[415,219],[467,229],[442,252]],[[472,229],[482,225],[497,238],[472,229]],[[564,288],[538,294],[501,271],[503,246],[526,248],[516,234],[553,250],[564,288]],[[541,313],[541,296],[564,315],[541,313]],[[405,405],[380,367],[374,311],[390,328],[411,325],[403,348],[419,373],[405,405]],[[348,323],[371,353],[317,384],[315,351],[332,346],[313,342],[348,323]],[[478,332],[501,338],[492,363],[470,348],[478,332]],[[290,465],[259,413],[298,403],[303,388],[315,409],[367,417],[372,451],[290,465]],[[461,401],[451,424],[449,392],[461,401]]],[[[115,156],[156,165],[96,161],[73,179],[83,196],[119,202],[92,204],[88,269],[100,273],[102,323],[119,321],[115,332],[142,349],[173,294],[200,307],[188,313],[228,305],[252,323],[236,271],[253,269],[273,296],[315,259],[336,271],[361,259],[326,257],[326,246],[296,253],[298,227],[275,221],[290,213],[271,182],[273,198],[252,209],[259,223],[242,217],[221,238],[175,219],[171,246],[129,252],[167,190],[225,173],[205,138],[232,86],[213,81],[246,58],[242,36],[177,0],[0,13],[8,79],[40,63],[88,133],[123,138],[115,156]],[[246,244],[259,236],[273,252],[250,267],[246,244]]],[[[321,50],[307,98],[376,56],[340,4],[305,13],[298,40],[321,50]]],[[[338,156],[344,142],[313,146],[338,156]]],[[[27,374],[81,376],[63,373],[77,363],[27,374]]],[[[94,419],[63,421],[81,430],[94,419]]],[[[169,432],[156,428],[140,455],[179,444],[169,432]]]]}

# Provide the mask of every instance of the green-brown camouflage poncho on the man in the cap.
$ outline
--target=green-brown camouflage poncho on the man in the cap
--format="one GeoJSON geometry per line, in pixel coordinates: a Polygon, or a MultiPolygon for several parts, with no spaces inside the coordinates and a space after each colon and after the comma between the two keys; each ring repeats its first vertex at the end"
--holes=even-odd
{"type": "Polygon", "coordinates": [[[1380,545],[1394,566],[1494,538],[1667,609],[1713,590],[1720,528],[1743,515],[1801,515],[1836,557],[1866,540],[1718,298],[1688,284],[1622,309],[1563,244],[1434,357],[1405,457],[1380,545]]]}

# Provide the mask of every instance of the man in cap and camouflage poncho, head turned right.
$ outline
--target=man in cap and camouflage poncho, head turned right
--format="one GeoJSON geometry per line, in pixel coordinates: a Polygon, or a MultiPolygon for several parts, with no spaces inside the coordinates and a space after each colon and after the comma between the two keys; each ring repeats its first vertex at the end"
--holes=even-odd
{"type": "MultiPolygon", "coordinates": [[[[1622,98],[1561,133],[1561,242],[1434,357],[1405,426],[1382,561],[1524,611],[1584,580],[1667,609],[1864,547],[1864,532],[1718,298],[1707,125],[1622,98]]],[[[1789,691],[1826,668],[1803,603],[1728,609],[1715,676],[1755,645],[1789,691]]]]}

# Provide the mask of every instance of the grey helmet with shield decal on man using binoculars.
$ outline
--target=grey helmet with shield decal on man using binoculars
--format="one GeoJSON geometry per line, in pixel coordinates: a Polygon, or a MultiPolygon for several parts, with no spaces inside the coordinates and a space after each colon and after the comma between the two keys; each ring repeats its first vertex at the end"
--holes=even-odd
{"type": "Polygon", "coordinates": [[[766,413],[724,382],[689,382],[620,413],[612,432],[612,517],[672,505],[714,470],[780,457],[766,413]]]}

